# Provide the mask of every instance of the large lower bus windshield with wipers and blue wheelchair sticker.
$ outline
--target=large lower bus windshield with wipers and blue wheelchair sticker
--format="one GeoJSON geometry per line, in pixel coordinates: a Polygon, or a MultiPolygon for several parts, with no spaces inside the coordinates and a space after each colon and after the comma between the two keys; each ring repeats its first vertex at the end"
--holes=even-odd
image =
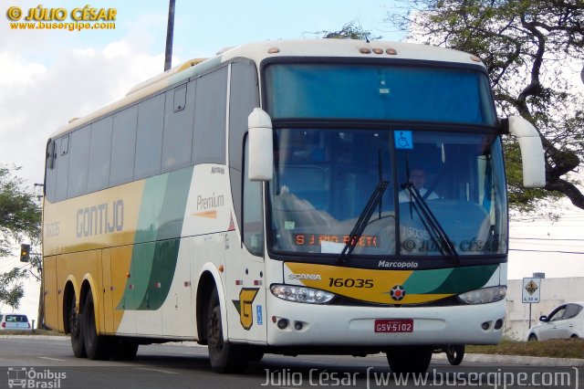
{"type": "Polygon", "coordinates": [[[287,128],[275,130],[275,138],[275,252],[339,255],[384,183],[353,256],[506,253],[506,186],[495,135],[287,128]]]}

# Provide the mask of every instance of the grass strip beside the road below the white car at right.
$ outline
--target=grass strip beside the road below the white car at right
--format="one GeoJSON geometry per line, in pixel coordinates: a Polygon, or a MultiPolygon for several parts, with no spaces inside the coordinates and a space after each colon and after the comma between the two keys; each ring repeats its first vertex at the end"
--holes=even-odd
{"type": "Polygon", "coordinates": [[[464,352],[584,359],[584,339],[555,339],[544,342],[503,340],[495,346],[467,345],[464,352]]]}

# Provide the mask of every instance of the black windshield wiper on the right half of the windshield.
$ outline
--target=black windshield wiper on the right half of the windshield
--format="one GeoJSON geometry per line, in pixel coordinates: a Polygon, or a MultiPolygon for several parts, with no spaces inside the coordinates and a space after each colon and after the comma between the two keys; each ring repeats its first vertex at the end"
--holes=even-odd
{"type": "Polygon", "coordinates": [[[434,241],[434,243],[440,249],[440,252],[443,256],[449,255],[453,258],[454,262],[458,262],[458,253],[456,252],[456,247],[454,247],[453,242],[450,241],[450,238],[444,231],[443,226],[441,226],[436,216],[434,216],[432,210],[423,199],[420,192],[411,184],[401,184],[403,190],[407,191],[410,194],[410,205],[412,203],[415,205],[414,208],[418,212],[418,215],[422,217],[422,224],[426,227],[426,230],[430,232],[430,235],[434,241]]]}

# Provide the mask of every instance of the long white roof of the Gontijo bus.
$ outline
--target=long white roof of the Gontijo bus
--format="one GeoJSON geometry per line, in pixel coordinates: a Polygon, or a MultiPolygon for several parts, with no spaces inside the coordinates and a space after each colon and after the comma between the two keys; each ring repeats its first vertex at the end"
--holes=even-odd
{"type": "Polygon", "coordinates": [[[57,129],[51,138],[73,131],[101,117],[128,107],[138,101],[184,82],[193,76],[203,74],[210,68],[232,58],[250,58],[259,64],[266,58],[284,57],[331,57],[331,58],[399,58],[413,60],[443,61],[484,66],[473,55],[443,47],[433,47],[404,42],[364,41],[354,39],[297,39],[269,40],[233,47],[218,53],[210,59],[195,58],[176,66],[151,79],[141,82],[130,89],[121,100],[115,101],[99,110],[57,129]]]}

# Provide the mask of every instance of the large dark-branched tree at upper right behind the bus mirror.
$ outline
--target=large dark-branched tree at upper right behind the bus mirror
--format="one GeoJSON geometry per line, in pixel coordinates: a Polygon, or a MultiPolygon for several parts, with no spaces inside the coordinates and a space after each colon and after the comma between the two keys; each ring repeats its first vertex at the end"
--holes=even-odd
{"type": "Polygon", "coordinates": [[[546,152],[544,190],[520,187],[516,143],[506,142],[511,201],[531,208],[537,199],[568,196],[584,209],[570,181],[584,156],[584,99],[575,91],[584,55],[583,0],[414,0],[407,16],[389,21],[409,39],[463,50],[482,58],[497,109],[535,125],[546,152]],[[567,65],[578,65],[570,74],[567,65]]]}

